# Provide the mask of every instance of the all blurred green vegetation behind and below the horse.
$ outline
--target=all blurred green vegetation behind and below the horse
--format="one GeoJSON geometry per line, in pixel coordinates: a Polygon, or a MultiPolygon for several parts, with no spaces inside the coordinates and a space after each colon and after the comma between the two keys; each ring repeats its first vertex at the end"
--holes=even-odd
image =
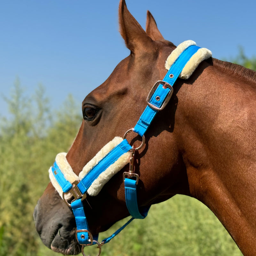
{"type": "MultiPolygon", "coordinates": [[[[243,48],[232,62],[256,70],[256,58],[243,48]]],[[[4,85],[2,85],[4,86],[4,85]]],[[[70,95],[58,111],[50,109],[44,87],[29,97],[19,79],[0,116],[0,256],[57,255],[35,230],[33,210],[49,182],[48,169],[59,152],[67,152],[82,122],[81,102],[70,95]],[[26,96],[25,96],[26,95],[26,96]]],[[[100,234],[111,235],[125,220],[100,234]]],[[[95,248],[86,248],[95,255],[95,248]]],[[[145,220],[134,220],[102,255],[242,255],[214,214],[196,199],[174,196],[153,205],[145,220]]]]}

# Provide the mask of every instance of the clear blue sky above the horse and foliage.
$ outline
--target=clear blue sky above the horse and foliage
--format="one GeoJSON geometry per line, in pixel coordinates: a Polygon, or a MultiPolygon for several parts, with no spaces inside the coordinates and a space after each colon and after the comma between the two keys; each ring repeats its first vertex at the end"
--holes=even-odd
{"type": "MultiPolygon", "coordinates": [[[[118,32],[118,0],[2,0],[0,8],[0,115],[15,78],[27,94],[43,84],[53,109],[69,93],[79,104],[129,55],[118,32]]],[[[191,39],[230,59],[244,47],[256,55],[256,1],[126,0],[145,28],[149,10],[165,39],[191,39]]]]}

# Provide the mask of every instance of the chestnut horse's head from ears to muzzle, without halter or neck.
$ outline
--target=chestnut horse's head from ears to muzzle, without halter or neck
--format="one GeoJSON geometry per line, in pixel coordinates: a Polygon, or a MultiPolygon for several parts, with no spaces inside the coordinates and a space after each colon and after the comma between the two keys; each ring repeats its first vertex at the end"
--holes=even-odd
{"type": "MultiPolygon", "coordinates": [[[[165,75],[165,61],[175,48],[172,43],[164,40],[150,12],[147,15],[145,32],[127,10],[124,1],[119,6],[119,24],[120,33],[131,54],[82,103],[84,120],[66,156],[77,175],[100,148],[115,136],[123,136],[124,132],[136,124],[140,113],[146,107],[148,91],[152,84],[165,75]]],[[[150,140],[136,156],[137,161],[143,157],[140,165],[135,163],[136,172],[140,173],[140,206],[161,202],[178,192],[172,188],[173,184],[166,184],[166,179],[175,180],[177,184],[177,176],[182,176],[178,171],[179,156],[174,153],[176,142],[170,136],[174,116],[171,109],[175,109],[175,104],[174,99],[164,110],[168,113],[168,118],[161,118],[161,115],[156,117],[157,128],[148,131],[150,140]],[[163,133],[170,134],[168,144],[159,139],[163,133]],[[160,156],[166,157],[173,164],[163,162],[160,156]],[[163,174],[156,176],[159,169],[163,174]],[[171,169],[175,171],[170,172],[171,169]]],[[[124,167],[124,171],[127,168],[128,165],[124,167]]],[[[129,216],[122,175],[123,172],[118,172],[97,196],[87,196],[88,202],[84,200],[86,217],[93,234],[107,230],[116,221],[129,216]]],[[[182,189],[184,186],[176,186],[178,187],[182,189]]],[[[60,198],[52,183],[49,183],[39,199],[34,216],[36,229],[46,246],[66,254],[80,252],[74,236],[76,225],[72,211],[60,198]]]]}

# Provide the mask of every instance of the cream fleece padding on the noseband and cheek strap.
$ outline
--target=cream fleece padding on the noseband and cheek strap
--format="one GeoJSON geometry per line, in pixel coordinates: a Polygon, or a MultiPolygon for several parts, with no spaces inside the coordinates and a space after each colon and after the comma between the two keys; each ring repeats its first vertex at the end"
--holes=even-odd
{"type": "MultiPolygon", "coordinates": [[[[84,176],[90,172],[90,170],[97,165],[101,159],[103,159],[113,148],[115,148],[120,142],[122,142],[121,137],[115,137],[113,140],[108,142],[100,151],[89,161],[83,168],[83,170],[77,176],[71,166],[68,164],[66,155],[67,153],[59,153],[56,156],[56,163],[59,166],[61,172],[63,173],[66,180],[73,183],[75,180],[82,180],[84,176]]],[[[117,172],[119,172],[126,164],[130,161],[130,152],[124,153],[115,163],[111,164],[104,172],[102,172],[99,177],[92,182],[92,185],[87,190],[90,196],[96,196],[100,192],[101,188],[110,180],[117,172]]],[[[52,173],[52,167],[49,169],[49,176],[54,188],[58,191],[62,197],[62,188],[55,179],[52,173]]],[[[66,198],[66,196],[65,196],[66,198]]],[[[67,197],[68,199],[68,197],[67,197]]]]}

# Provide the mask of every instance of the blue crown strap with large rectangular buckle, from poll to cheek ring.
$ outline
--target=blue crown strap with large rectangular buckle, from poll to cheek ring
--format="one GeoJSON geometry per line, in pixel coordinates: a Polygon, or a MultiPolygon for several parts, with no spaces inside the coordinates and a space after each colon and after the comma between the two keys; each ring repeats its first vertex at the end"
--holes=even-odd
{"type": "MultiPolygon", "coordinates": [[[[186,48],[172,64],[171,68],[166,73],[163,81],[173,86],[178,76],[180,75],[182,69],[187,64],[188,60],[197,52],[199,48],[200,47],[196,45],[188,46],[188,48],[186,48]],[[170,74],[173,74],[172,78],[170,78],[170,74]]],[[[164,103],[164,100],[166,99],[166,96],[168,95],[169,91],[170,89],[168,87],[164,89],[163,84],[159,84],[149,102],[155,105],[156,107],[160,108],[164,103]],[[157,101],[157,96],[159,96],[161,100],[157,101]]],[[[148,130],[148,127],[151,124],[154,117],[156,116],[157,112],[158,110],[155,110],[147,106],[142,115],[140,116],[139,121],[135,125],[134,132],[137,132],[140,136],[143,136],[143,134],[148,130]]]]}

